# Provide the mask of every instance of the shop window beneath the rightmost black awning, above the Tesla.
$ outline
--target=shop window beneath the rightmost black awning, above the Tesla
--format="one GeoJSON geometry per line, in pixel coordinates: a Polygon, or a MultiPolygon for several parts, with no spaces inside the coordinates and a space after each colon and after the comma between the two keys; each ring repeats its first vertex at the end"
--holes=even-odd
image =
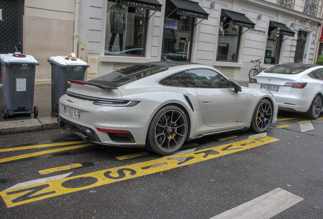
{"type": "Polygon", "coordinates": [[[265,63],[267,64],[277,64],[279,59],[279,51],[281,46],[282,35],[279,34],[279,28],[269,27],[266,53],[265,53],[265,63]]]}

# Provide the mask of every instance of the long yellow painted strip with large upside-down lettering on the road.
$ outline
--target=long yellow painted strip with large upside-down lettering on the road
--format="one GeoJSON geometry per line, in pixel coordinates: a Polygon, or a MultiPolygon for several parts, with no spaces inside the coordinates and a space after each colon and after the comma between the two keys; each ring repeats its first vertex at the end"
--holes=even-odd
{"type": "Polygon", "coordinates": [[[25,186],[0,192],[8,207],[30,203],[62,194],[82,191],[85,189],[111,184],[121,180],[131,179],[147,174],[165,171],[220,156],[259,147],[260,145],[277,141],[269,136],[257,136],[246,140],[220,145],[200,151],[160,158],[156,160],[136,163],[106,170],[100,170],[83,175],[56,179],[39,184],[25,186]],[[86,180],[87,179],[87,180],[86,180]],[[87,185],[77,187],[78,182],[88,182],[87,185]],[[73,187],[74,186],[74,187],[73,187]]]}

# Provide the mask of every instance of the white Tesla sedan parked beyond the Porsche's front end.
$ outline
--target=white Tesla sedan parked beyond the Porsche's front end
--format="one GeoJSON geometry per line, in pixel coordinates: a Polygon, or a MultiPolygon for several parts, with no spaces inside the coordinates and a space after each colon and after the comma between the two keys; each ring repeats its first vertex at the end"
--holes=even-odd
{"type": "Polygon", "coordinates": [[[270,90],[284,111],[306,113],[316,119],[322,111],[323,66],[278,64],[249,80],[249,88],[270,90]]]}

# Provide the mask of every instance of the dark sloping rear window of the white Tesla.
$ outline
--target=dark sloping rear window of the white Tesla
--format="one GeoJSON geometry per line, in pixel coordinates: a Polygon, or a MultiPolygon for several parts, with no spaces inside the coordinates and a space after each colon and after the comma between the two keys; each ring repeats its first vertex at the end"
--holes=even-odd
{"type": "Polygon", "coordinates": [[[315,67],[317,65],[313,64],[282,64],[275,65],[270,68],[267,68],[264,72],[273,73],[273,74],[284,74],[284,75],[296,75],[305,71],[311,67],[315,67]]]}

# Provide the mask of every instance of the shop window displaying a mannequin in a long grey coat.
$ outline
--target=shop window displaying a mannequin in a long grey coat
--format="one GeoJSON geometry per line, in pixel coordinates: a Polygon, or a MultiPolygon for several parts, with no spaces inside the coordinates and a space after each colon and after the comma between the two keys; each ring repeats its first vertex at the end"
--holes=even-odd
{"type": "Polygon", "coordinates": [[[105,55],[144,55],[148,10],[108,1],[105,55]]]}

